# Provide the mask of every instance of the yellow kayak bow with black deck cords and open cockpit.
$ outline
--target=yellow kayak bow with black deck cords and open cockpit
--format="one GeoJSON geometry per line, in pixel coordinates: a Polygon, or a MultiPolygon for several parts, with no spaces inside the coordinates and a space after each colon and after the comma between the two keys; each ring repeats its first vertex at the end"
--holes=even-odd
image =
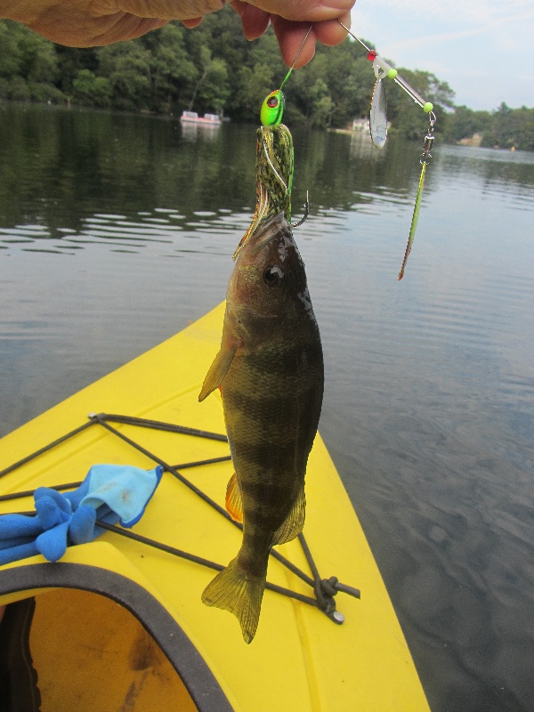
{"type": "Polygon", "coordinates": [[[31,512],[33,490],[72,490],[95,464],[165,470],[132,529],[109,526],[60,562],[38,554],[0,567],[0,676],[20,698],[13,708],[428,710],[319,435],[303,537],[271,555],[253,643],[234,616],[201,602],[241,540],[223,514],[233,470],[221,398],[198,403],[222,322],[220,305],[0,441],[1,514],[31,512]]]}

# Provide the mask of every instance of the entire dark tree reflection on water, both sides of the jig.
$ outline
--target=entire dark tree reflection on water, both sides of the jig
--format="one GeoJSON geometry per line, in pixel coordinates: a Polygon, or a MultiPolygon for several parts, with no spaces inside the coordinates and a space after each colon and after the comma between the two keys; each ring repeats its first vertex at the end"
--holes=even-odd
{"type": "MultiPolygon", "coordinates": [[[[125,216],[154,206],[174,206],[186,217],[195,210],[254,207],[253,126],[223,125],[207,139],[205,127],[184,129],[177,119],[140,124],[122,114],[12,106],[2,115],[3,224],[21,223],[23,215],[25,223],[42,221],[54,234],[66,227],[61,215],[80,231],[95,202],[109,214],[121,205],[125,216]],[[36,195],[42,198],[34,201],[36,195]]],[[[394,142],[373,151],[363,134],[295,132],[295,205],[306,190],[315,214],[368,206],[376,195],[411,199],[418,148],[410,149],[407,159],[394,142]]]]}

